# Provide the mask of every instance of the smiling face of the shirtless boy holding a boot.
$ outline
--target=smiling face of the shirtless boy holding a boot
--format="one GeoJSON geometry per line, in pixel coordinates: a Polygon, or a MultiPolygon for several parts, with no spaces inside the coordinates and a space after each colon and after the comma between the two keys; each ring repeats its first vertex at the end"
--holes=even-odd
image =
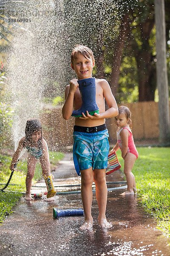
{"type": "Polygon", "coordinates": [[[94,62],[91,58],[85,58],[81,53],[77,54],[77,59],[74,59],[72,69],[76,72],[78,80],[91,78],[94,62]]]}

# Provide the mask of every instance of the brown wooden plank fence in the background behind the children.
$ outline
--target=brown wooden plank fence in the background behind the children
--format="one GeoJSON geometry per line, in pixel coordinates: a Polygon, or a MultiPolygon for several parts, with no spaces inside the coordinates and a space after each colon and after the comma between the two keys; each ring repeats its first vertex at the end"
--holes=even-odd
{"type": "MultiPolygon", "coordinates": [[[[159,138],[159,118],[157,102],[137,102],[125,104],[132,113],[134,140],[153,140],[159,138]]],[[[68,121],[62,118],[62,107],[44,109],[41,115],[43,136],[50,148],[72,145],[74,117],[68,121]]],[[[110,143],[116,142],[114,118],[106,119],[110,143]]]]}

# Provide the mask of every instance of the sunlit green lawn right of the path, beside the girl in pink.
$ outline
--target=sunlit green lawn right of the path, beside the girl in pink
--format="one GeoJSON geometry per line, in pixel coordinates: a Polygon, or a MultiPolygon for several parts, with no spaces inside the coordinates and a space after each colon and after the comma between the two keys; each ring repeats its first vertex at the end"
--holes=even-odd
{"type": "MultiPolygon", "coordinates": [[[[158,228],[170,237],[170,148],[137,148],[139,158],[133,167],[138,196],[144,209],[158,221],[158,228]]],[[[120,150],[118,158],[123,167],[120,150]]]]}

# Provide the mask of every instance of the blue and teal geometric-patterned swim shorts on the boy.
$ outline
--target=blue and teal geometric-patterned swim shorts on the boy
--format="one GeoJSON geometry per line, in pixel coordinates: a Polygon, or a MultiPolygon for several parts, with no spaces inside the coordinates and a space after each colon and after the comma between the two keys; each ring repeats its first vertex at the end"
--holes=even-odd
{"type": "Polygon", "coordinates": [[[108,129],[89,133],[74,131],[73,160],[78,175],[81,175],[81,170],[108,166],[108,137],[108,129]]]}

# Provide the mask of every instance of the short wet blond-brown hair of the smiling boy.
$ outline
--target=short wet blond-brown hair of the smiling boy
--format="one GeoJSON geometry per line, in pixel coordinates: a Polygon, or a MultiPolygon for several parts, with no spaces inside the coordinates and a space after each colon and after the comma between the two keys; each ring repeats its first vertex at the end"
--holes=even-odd
{"type": "Polygon", "coordinates": [[[71,52],[71,64],[72,65],[74,65],[74,60],[77,59],[78,53],[81,53],[85,58],[91,58],[92,61],[95,62],[92,50],[89,49],[87,46],[77,44],[71,52]]]}

